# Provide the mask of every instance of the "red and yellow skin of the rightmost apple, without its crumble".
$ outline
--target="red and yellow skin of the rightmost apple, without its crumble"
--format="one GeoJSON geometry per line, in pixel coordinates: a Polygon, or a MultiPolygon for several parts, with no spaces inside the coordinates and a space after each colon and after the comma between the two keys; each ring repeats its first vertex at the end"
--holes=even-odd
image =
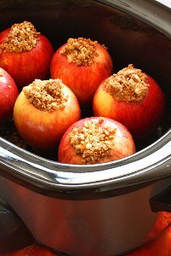
{"type": "Polygon", "coordinates": [[[161,88],[149,75],[147,83],[149,87],[142,102],[117,102],[106,90],[105,81],[102,82],[94,95],[94,115],[117,120],[135,139],[146,137],[157,128],[164,111],[161,88]]]}

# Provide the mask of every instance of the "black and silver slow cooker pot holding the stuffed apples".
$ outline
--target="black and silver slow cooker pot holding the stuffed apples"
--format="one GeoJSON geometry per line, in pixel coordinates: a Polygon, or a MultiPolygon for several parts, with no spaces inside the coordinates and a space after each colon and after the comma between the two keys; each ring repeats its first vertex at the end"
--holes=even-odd
{"type": "Polygon", "coordinates": [[[123,160],[71,166],[11,143],[13,124],[0,137],[0,194],[37,242],[82,256],[117,255],[140,246],[157,218],[149,199],[171,184],[170,9],[150,0],[0,3],[1,31],[29,20],[55,49],[70,37],[96,39],[108,47],[117,70],[134,63],[161,85],[166,97],[161,125],[123,160]]]}

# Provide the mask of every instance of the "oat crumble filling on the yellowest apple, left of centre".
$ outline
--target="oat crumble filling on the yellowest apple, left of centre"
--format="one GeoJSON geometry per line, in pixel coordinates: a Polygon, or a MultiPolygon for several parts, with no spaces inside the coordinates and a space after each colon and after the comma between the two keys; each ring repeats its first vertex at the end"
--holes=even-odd
{"type": "Polygon", "coordinates": [[[64,84],[60,79],[35,79],[32,84],[23,88],[23,92],[35,108],[53,112],[66,107],[68,96],[63,89],[64,84]]]}

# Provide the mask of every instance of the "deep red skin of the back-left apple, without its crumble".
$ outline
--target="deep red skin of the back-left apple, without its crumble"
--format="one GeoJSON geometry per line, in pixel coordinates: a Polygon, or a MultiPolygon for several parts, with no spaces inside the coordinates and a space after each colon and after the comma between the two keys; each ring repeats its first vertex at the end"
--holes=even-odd
{"type": "MultiPolygon", "coordinates": [[[[10,32],[10,28],[0,33],[0,44],[10,32]]],[[[14,79],[21,90],[34,79],[47,79],[54,49],[48,38],[38,35],[37,45],[22,53],[0,51],[0,67],[3,67],[14,79]]]]}

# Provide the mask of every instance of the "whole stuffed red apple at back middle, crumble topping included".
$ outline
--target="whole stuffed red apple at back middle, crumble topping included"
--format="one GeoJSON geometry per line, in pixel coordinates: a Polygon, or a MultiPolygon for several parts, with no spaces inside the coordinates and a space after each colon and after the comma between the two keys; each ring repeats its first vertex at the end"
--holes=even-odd
{"type": "Polygon", "coordinates": [[[111,56],[105,46],[86,38],[70,38],[52,59],[51,77],[62,79],[86,105],[99,84],[112,73],[111,56]]]}

